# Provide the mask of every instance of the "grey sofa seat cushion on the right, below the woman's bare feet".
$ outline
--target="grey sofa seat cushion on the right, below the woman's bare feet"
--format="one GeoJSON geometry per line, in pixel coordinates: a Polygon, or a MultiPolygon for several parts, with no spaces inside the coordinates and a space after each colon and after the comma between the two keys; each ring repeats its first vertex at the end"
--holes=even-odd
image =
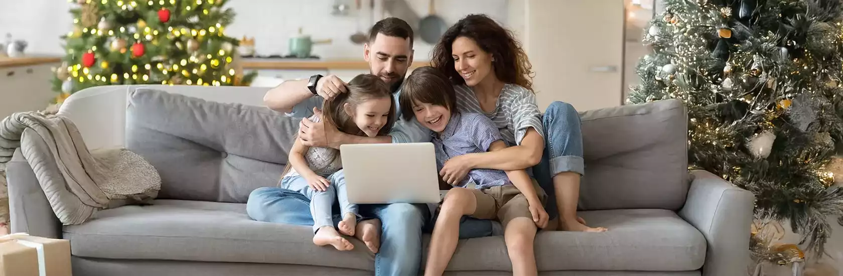
{"type": "MultiPolygon", "coordinates": [[[[673,211],[620,209],[579,214],[588,225],[609,231],[541,231],[535,239],[540,271],[691,271],[705,262],[705,237],[673,211]]],[[[512,264],[503,236],[491,236],[459,241],[447,269],[511,271],[512,264]]]]}

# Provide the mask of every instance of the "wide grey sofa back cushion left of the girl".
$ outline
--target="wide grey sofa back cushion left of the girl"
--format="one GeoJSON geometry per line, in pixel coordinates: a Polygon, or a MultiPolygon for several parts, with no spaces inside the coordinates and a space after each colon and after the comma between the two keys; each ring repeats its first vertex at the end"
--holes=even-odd
{"type": "Polygon", "coordinates": [[[277,185],[298,120],[266,107],[130,91],[126,148],[161,175],[158,198],[245,203],[277,185]]]}

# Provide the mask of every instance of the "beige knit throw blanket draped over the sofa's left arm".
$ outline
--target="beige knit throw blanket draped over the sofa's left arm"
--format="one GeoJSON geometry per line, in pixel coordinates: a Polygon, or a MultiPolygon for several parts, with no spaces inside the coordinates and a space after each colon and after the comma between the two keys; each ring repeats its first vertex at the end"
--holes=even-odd
{"type": "Polygon", "coordinates": [[[0,166],[17,148],[64,225],[81,224],[99,209],[147,202],[161,188],[158,171],[140,155],[121,148],[89,151],[65,116],[31,111],[3,119],[0,166]]]}

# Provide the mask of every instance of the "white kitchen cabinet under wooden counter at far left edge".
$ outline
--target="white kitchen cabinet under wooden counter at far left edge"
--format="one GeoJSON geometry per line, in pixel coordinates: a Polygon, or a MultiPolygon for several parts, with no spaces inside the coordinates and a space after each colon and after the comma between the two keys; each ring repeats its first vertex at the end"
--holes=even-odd
{"type": "Polygon", "coordinates": [[[52,67],[59,63],[0,67],[0,119],[15,112],[41,111],[56,97],[52,67]]]}

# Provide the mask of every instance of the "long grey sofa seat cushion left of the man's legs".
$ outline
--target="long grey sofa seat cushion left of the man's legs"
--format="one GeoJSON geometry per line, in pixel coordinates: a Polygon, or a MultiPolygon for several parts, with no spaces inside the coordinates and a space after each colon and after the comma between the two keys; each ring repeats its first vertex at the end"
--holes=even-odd
{"type": "Polygon", "coordinates": [[[72,255],[109,259],[263,262],[373,270],[374,256],[314,246],[309,226],[255,221],[243,203],[155,200],[106,209],[82,225],[64,226],[72,255]]]}

